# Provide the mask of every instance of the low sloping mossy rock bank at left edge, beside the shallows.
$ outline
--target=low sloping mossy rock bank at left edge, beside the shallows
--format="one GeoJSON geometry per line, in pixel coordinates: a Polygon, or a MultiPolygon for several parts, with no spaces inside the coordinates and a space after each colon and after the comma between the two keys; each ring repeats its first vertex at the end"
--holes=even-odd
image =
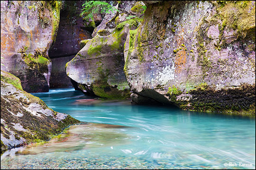
{"type": "Polygon", "coordinates": [[[80,121],[48,108],[38,97],[25,92],[16,76],[1,71],[1,152],[49,140],[77,123],[80,121]]]}

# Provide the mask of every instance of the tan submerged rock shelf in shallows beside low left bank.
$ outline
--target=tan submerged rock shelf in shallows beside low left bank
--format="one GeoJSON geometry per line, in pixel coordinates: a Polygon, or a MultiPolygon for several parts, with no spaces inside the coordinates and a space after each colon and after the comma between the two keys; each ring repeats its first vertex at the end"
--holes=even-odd
{"type": "Polygon", "coordinates": [[[20,154],[38,154],[52,152],[71,152],[97,147],[110,147],[130,143],[131,136],[122,133],[123,129],[131,128],[119,125],[86,123],[73,125],[46,143],[30,144],[21,149],[20,154]],[[79,141],[79,142],[78,142],[79,141]],[[36,147],[35,147],[36,146],[36,147]]]}

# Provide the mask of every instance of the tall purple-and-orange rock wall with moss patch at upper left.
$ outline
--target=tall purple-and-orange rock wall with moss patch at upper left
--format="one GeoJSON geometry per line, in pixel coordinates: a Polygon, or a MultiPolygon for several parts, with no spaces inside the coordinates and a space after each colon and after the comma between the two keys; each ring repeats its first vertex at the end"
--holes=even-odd
{"type": "Polygon", "coordinates": [[[1,70],[20,78],[29,93],[49,90],[48,50],[61,5],[61,1],[1,1],[1,70]]]}

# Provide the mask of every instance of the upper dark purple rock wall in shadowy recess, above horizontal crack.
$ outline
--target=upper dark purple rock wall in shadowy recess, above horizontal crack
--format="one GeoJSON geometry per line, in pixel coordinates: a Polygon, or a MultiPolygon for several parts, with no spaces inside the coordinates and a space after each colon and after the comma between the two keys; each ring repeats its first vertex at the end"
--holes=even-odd
{"type": "Polygon", "coordinates": [[[82,2],[64,1],[57,36],[49,50],[50,58],[75,55],[80,50],[79,42],[91,38],[91,33],[84,30],[84,21],[80,17],[82,2]]]}

